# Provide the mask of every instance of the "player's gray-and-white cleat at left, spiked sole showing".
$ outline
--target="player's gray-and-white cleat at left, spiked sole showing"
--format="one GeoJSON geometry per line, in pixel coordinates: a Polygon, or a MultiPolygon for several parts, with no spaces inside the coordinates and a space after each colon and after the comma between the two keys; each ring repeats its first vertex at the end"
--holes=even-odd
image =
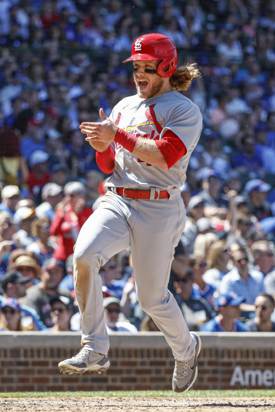
{"type": "Polygon", "coordinates": [[[89,351],[88,349],[82,348],[77,355],[70,359],[65,359],[65,361],[59,362],[58,367],[61,372],[68,372],[69,375],[72,373],[84,373],[87,370],[96,371],[101,373],[106,371],[110,366],[110,361],[107,355],[102,353],[97,353],[94,351],[89,351]]]}

